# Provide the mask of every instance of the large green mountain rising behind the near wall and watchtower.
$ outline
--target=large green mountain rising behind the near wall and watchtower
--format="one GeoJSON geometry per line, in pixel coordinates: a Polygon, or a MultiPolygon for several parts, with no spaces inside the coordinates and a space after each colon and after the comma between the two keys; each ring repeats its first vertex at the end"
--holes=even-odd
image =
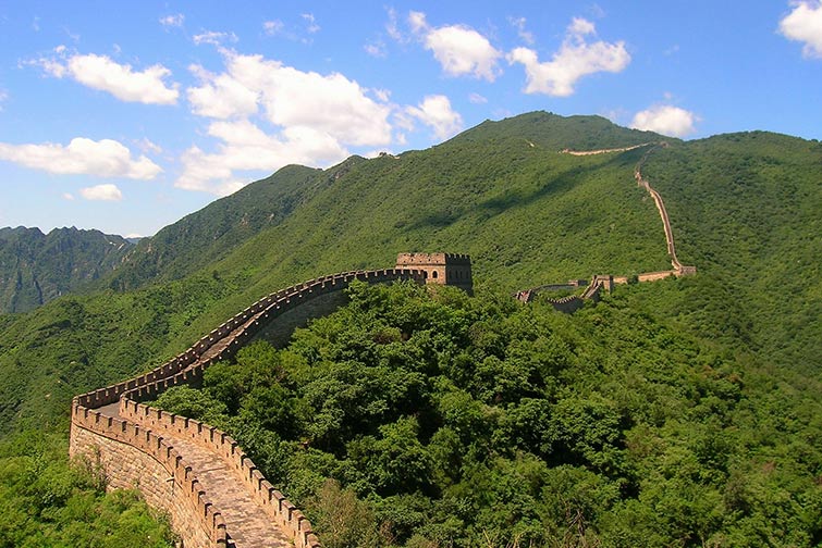
{"type": "Polygon", "coordinates": [[[538,112],[428,150],[285,167],[142,240],[97,292],[0,316],[0,423],[53,421],[73,394],[159,363],[262,295],[391,266],[400,251],[469,253],[479,288],[502,292],[667,270],[659,213],[634,179],[647,148],[561,152],[661,140],[670,146],[643,173],[665,199],[679,260],[699,273],[618,295],[723,351],[812,374],[818,142],[766,133],[683,142],[538,112]]]}

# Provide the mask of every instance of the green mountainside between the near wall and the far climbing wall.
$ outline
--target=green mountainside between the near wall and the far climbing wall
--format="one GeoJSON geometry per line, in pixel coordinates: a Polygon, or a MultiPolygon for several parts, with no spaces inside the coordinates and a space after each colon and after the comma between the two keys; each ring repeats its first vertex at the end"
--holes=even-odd
{"type": "Polygon", "coordinates": [[[2,424],[65,412],[71,394],[173,356],[272,290],[391,266],[400,251],[468,252],[476,279],[510,290],[666,267],[659,216],[633,182],[639,152],[559,153],[584,145],[589,127],[609,145],[653,137],[604,119],[535,113],[429,150],[324,172],[286,167],[249,185],[142,241],[106,281],[116,291],[3,319],[0,374],[13,381],[0,385],[2,424]],[[257,212],[248,227],[246,210],[257,212]]]}

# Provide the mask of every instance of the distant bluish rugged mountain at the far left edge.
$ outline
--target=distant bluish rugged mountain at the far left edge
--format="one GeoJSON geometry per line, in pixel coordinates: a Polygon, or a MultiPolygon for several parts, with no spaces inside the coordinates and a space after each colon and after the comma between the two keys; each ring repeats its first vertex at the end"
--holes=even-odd
{"type": "Polygon", "coordinates": [[[0,228],[0,312],[25,312],[108,275],[132,244],[99,231],[0,228]]]}

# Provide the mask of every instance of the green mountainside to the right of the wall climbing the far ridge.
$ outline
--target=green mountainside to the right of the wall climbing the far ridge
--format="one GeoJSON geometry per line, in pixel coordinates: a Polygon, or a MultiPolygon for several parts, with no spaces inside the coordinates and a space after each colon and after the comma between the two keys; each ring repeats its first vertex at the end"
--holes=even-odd
{"type": "Polygon", "coordinates": [[[679,259],[709,278],[689,286],[701,307],[687,313],[707,334],[811,375],[822,364],[821,162],[819,142],[752,132],[660,150],[645,170],[679,259]]]}

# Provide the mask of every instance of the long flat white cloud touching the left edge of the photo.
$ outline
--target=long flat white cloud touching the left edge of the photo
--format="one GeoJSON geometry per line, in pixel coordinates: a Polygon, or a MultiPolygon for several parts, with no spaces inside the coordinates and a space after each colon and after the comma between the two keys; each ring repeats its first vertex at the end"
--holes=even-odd
{"type": "Polygon", "coordinates": [[[152,179],[162,169],[145,155],[136,160],[122,144],[76,137],[68,146],[0,142],[0,159],[49,173],[152,179]]]}

